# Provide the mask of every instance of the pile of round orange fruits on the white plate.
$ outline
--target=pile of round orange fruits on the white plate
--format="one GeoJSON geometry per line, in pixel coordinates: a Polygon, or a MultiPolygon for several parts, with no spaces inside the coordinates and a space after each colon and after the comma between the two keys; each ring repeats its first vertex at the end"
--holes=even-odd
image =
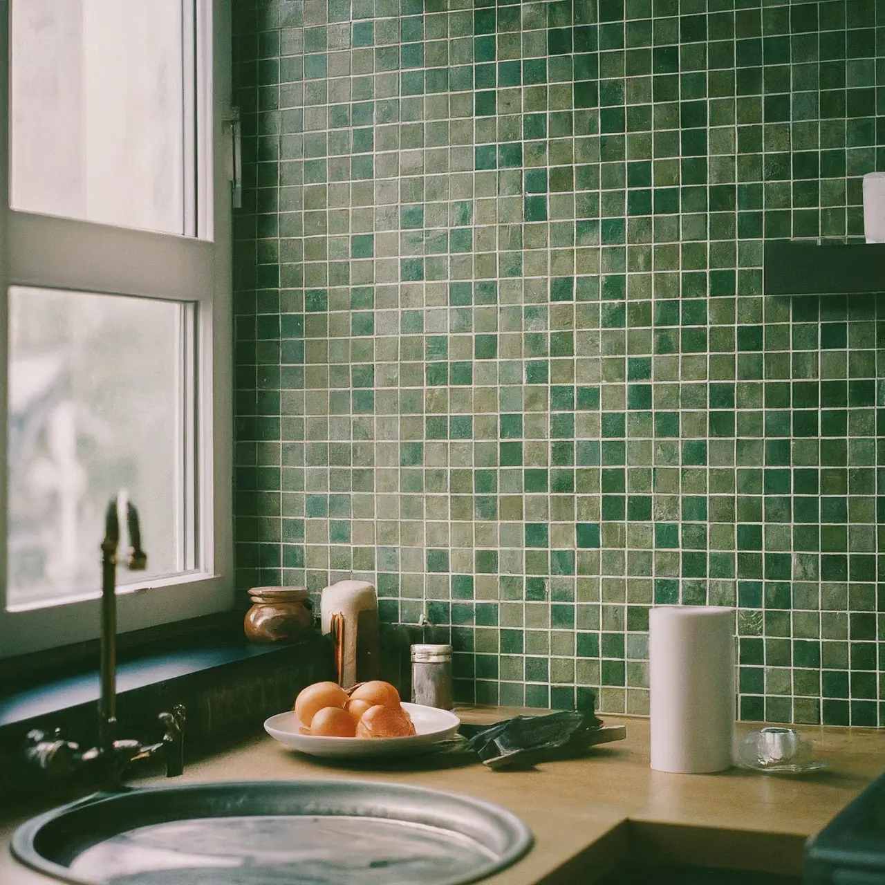
{"type": "Polygon", "coordinates": [[[304,735],[319,737],[406,737],[415,734],[399,692],[381,680],[346,692],[336,682],[314,682],[295,700],[304,735]]]}

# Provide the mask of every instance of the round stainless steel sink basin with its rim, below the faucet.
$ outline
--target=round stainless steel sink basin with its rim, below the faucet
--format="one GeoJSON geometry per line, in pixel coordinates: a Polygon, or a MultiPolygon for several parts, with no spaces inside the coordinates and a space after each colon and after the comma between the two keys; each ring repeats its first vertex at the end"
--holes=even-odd
{"type": "Polygon", "coordinates": [[[511,812],[374,781],[227,781],[98,793],[27,821],[12,853],[81,885],[460,885],[532,846],[511,812]]]}

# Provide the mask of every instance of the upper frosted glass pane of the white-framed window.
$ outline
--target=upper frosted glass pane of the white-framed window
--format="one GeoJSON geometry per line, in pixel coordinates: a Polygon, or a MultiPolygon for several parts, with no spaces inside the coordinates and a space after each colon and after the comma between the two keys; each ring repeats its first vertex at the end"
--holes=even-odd
{"type": "Polygon", "coordinates": [[[187,233],[181,31],[181,0],[15,0],[13,209],[187,233]]]}

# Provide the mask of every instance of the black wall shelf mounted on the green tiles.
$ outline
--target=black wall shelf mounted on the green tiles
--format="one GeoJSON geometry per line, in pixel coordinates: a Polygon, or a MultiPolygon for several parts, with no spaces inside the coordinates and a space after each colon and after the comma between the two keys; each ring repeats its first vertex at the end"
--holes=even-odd
{"type": "Polygon", "coordinates": [[[763,252],[766,295],[873,295],[885,292],[885,242],[769,240],[763,252]]]}

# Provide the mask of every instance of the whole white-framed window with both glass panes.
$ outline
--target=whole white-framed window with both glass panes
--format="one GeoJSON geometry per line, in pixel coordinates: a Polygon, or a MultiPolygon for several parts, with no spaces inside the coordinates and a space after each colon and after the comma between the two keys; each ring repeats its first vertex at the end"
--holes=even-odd
{"type": "Polygon", "coordinates": [[[229,0],[15,0],[0,51],[0,657],[233,599],[229,0]],[[2,188],[0,188],[2,189],[2,188]]]}

